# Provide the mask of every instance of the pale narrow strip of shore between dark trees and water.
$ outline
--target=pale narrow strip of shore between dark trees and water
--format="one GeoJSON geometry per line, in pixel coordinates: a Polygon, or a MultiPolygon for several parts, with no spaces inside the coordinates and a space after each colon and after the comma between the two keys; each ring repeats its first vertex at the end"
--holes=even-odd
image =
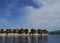
{"type": "Polygon", "coordinates": [[[48,34],[17,34],[17,33],[3,33],[0,36],[48,36],[48,34]]]}

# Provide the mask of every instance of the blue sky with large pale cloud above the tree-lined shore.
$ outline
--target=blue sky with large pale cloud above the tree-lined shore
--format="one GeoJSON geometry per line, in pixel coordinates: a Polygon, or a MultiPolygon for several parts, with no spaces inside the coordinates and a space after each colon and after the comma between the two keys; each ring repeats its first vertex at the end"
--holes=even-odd
{"type": "Polygon", "coordinates": [[[60,0],[0,0],[1,28],[60,29],[60,0]]]}

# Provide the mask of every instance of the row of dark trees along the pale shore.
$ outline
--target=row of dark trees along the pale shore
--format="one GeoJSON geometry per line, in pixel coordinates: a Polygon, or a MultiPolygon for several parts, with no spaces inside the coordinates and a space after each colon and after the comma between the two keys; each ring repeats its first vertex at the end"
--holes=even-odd
{"type": "Polygon", "coordinates": [[[48,31],[47,30],[41,30],[41,29],[0,29],[0,33],[18,33],[18,34],[48,34],[48,31]],[[29,32],[30,31],[30,32],[29,32]]]}

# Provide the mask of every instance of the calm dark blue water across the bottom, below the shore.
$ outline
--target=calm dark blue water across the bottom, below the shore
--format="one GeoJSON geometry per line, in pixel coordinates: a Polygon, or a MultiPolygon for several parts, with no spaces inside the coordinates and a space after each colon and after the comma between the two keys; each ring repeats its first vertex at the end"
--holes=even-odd
{"type": "Polygon", "coordinates": [[[0,43],[60,43],[60,35],[2,37],[0,43]]]}

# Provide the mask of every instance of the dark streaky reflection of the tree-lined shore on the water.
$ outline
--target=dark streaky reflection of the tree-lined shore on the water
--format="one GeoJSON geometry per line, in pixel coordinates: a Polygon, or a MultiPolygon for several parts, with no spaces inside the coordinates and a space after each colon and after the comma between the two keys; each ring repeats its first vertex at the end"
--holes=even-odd
{"type": "Polygon", "coordinates": [[[47,36],[0,37],[0,43],[45,43],[47,41],[47,36]]]}

